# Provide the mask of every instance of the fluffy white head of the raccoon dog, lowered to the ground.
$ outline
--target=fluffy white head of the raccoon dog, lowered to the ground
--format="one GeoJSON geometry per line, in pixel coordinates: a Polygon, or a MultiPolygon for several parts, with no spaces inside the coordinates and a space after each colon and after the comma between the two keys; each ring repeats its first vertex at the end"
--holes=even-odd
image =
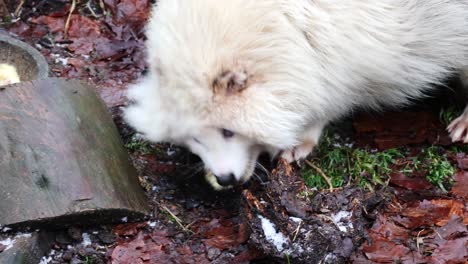
{"type": "Polygon", "coordinates": [[[294,39],[272,3],[159,1],[149,74],[129,91],[128,123],[149,140],[188,146],[220,185],[248,180],[261,151],[296,145],[306,112],[321,114],[310,108],[322,101],[304,92],[307,40],[294,39]]]}

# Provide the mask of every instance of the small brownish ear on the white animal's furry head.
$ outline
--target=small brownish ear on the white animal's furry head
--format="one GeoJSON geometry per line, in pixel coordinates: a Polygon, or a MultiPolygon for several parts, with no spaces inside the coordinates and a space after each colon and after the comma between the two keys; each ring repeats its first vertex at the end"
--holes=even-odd
{"type": "Polygon", "coordinates": [[[247,88],[249,75],[244,70],[225,70],[213,80],[213,92],[217,95],[235,95],[247,88]]]}

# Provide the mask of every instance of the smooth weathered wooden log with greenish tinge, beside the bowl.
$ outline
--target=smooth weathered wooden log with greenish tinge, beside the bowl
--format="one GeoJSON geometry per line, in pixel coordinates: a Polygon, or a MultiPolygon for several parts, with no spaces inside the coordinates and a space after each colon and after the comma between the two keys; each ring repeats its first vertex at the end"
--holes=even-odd
{"type": "Polygon", "coordinates": [[[0,225],[110,223],[148,212],[112,118],[78,81],[0,88],[0,186],[0,225]]]}

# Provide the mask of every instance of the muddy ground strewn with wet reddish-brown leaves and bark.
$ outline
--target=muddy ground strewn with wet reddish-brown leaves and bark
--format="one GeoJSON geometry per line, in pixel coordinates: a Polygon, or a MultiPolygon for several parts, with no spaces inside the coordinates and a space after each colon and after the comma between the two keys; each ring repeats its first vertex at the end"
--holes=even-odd
{"type": "MultiPolygon", "coordinates": [[[[88,1],[74,8],[60,0],[5,3],[16,14],[3,16],[0,30],[40,50],[51,76],[97,87],[153,210],[140,223],[56,230],[41,263],[466,263],[468,156],[448,140],[440,104],[357,115],[330,129],[330,148],[405,149],[381,184],[361,173],[370,184],[343,175],[346,183],[333,190],[314,188],[302,177],[308,164],[262,159],[267,172],[215,192],[196,157],[139,140],[120,118],[126,85],[146,67],[142,28],[149,1],[88,1]],[[402,173],[432,145],[453,167],[450,178],[437,185],[428,171],[402,173]]],[[[3,231],[0,252],[18,235],[3,231]]]]}

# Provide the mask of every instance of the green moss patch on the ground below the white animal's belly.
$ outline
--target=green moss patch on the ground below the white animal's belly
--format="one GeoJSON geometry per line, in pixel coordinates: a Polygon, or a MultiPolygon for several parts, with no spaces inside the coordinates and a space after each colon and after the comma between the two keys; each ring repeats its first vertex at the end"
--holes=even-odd
{"type": "MultiPolygon", "coordinates": [[[[334,188],[358,184],[372,189],[373,186],[385,185],[392,172],[403,172],[409,176],[418,172],[424,173],[429,182],[446,191],[455,174],[445,150],[434,146],[423,149],[415,157],[408,157],[405,148],[373,151],[332,144],[329,137],[324,137],[316,151],[317,155],[310,162],[323,171],[334,188]],[[406,159],[407,165],[395,165],[397,159],[406,159]]],[[[329,187],[321,174],[310,166],[304,167],[302,176],[309,187],[329,187]]]]}

